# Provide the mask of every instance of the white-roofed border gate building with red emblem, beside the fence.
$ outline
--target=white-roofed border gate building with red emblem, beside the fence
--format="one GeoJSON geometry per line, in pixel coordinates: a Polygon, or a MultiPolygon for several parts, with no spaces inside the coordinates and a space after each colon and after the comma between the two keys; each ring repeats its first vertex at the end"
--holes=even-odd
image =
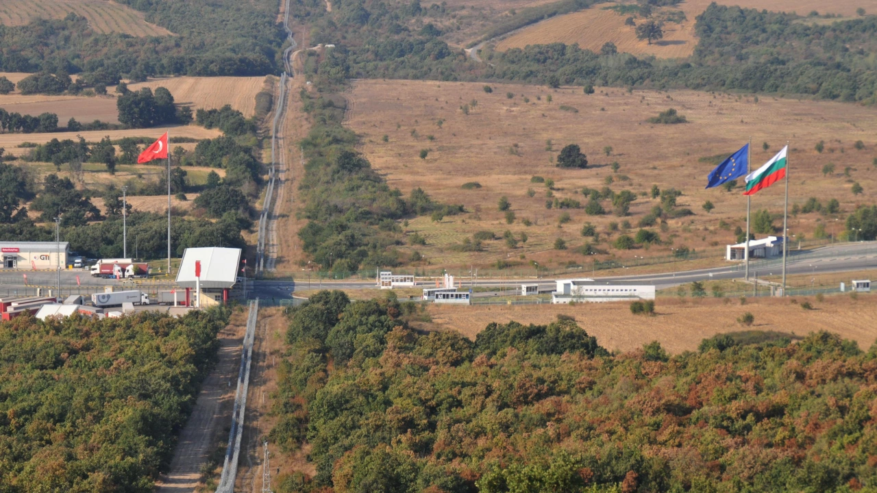
{"type": "MultiPolygon", "coordinates": [[[[186,289],[185,306],[209,306],[228,303],[229,291],[238,281],[240,248],[186,248],[182,254],[176,284],[186,289]],[[201,304],[192,296],[200,291],[201,304]]],[[[182,303],[181,303],[182,304],[182,303]]]]}

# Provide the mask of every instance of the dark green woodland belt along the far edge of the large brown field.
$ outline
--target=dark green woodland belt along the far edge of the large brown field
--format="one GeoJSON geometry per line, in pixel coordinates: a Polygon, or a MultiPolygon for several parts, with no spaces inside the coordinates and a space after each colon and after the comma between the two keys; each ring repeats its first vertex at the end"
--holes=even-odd
{"type": "Polygon", "coordinates": [[[339,31],[332,25],[345,32],[345,42],[327,57],[332,70],[323,72],[324,80],[332,83],[411,78],[548,84],[556,77],[568,85],[733,89],[877,102],[877,71],[870,59],[877,50],[875,16],[809,25],[794,14],[711,4],[696,18],[699,41],[688,59],[640,58],[613,50],[597,54],[555,43],[504,53],[488,46],[481,52],[488,63],[476,63],[428,30],[404,27],[410,9],[382,11],[353,0],[339,12],[325,14],[308,5],[296,4],[294,13],[319,26],[317,39],[332,42],[339,31]]]}

